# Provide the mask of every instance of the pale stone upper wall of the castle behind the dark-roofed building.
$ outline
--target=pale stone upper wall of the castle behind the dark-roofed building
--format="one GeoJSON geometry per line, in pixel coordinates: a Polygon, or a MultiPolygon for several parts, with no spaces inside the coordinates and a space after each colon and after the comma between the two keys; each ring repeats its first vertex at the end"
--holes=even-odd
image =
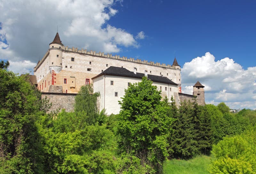
{"type": "MultiPolygon", "coordinates": [[[[62,66],[60,73],[57,73],[57,75],[54,76],[54,78],[56,78],[54,79],[56,82],[54,85],[62,85],[63,92],[66,92],[67,90],[68,93],[77,93],[80,87],[85,84],[85,78],[90,78],[90,81],[92,81],[92,77],[97,76],[110,66],[123,67],[132,72],[135,67],[139,73],[144,73],[145,70],[147,70],[149,75],[163,75],[171,79],[173,82],[179,85],[181,84],[179,66],[165,65],[158,62],[148,62],[146,60],[141,61],[140,59],[134,60],[134,58],[127,59],[127,57],[120,57],[117,55],[112,56],[111,54],[104,54],[101,52],[96,53],[95,51],[87,52],[83,49],[77,50],[77,48],[75,49],[74,47],[68,48],[61,46],[61,48],[58,47],[58,51],[59,49],[62,49],[62,54],[59,52],[55,53],[55,48],[50,47],[43,59],[34,68],[34,74],[37,77],[38,84],[44,83],[45,85],[46,81],[47,85],[49,82],[51,85],[52,76],[50,74],[49,67],[52,65],[52,58],[58,59],[58,65],[60,64],[62,66]],[[57,58],[55,54],[58,54],[59,58],[57,58]],[[51,55],[51,57],[49,55],[51,55]],[[71,58],[74,58],[74,61],[71,61],[71,58]],[[59,59],[61,62],[59,62],[59,59]],[[88,71],[88,68],[91,70],[88,71]],[[75,77],[75,79],[71,76],[75,77]],[[63,84],[64,78],[68,79],[68,84],[63,84]],[[75,84],[69,83],[71,81],[75,84]],[[73,88],[74,86],[75,88],[73,88]]],[[[56,60],[53,62],[56,62],[56,60]]],[[[47,90],[49,90],[47,85],[46,88],[44,87],[44,92],[48,92],[47,90]]]]}

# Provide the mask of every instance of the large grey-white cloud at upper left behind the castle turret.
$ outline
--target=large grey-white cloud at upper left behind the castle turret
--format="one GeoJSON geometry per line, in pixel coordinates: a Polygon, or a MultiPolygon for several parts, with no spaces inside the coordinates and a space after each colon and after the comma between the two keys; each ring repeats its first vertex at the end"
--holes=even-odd
{"type": "Polygon", "coordinates": [[[114,0],[9,0],[0,4],[0,59],[37,62],[57,25],[65,46],[114,53],[139,45],[132,33],[108,24],[118,13],[114,0]]]}

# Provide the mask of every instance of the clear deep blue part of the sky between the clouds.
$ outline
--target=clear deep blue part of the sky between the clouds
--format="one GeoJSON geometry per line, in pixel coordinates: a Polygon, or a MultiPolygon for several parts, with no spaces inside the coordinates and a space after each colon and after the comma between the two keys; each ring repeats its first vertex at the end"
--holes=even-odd
{"type": "MultiPolygon", "coordinates": [[[[214,54],[230,57],[244,68],[256,59],[256,1],[124,1],[108,23],[129,33],[144,31],[140,49],[125,54],[183,65],[214,54]]],[[[256,62],[256,61],[255,61],[256,62]]],[[[254,63],[255,65],[255,63],[254,63]]]]}

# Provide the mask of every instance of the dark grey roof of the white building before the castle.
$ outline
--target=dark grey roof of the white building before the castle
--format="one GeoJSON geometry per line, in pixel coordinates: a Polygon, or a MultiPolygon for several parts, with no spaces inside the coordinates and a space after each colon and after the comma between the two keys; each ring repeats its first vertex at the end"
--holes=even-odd
{"type": "MultiPolygon", "coordinates": [[[[109,67],[105,71],[101,72],[99,75],[92,77],[92,79],[101,76],[101,75],[112,75],[112,76],[123,76],[123,77],[132,77],[132,78],[142,78],[145,76],[143,73],[136,73],[134,74],[132,71],[129,71],[128,69],[125,68],[120,68],[120,67],[109,67]]],[[[170,79],[167,77],[163,76],[154,76],[148,74],[148,79],[152,80],[153,82],[159,82],[159,83],[167,83],[167,84],[173,84],[173,85],[178,85],[174,82],[172,82],[170,79]]]]}

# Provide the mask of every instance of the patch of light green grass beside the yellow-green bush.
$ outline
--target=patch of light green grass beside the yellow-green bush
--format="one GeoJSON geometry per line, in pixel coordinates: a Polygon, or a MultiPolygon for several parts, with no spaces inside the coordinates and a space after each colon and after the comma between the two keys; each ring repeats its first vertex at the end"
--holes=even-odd
{"type": "Polygon", "coordinates": [[[210,156],[196,156],[190,160],[166,160],[164,162],[164,174],[204,174],[208,173],[207,167],[211,163],[210,156]]]}

